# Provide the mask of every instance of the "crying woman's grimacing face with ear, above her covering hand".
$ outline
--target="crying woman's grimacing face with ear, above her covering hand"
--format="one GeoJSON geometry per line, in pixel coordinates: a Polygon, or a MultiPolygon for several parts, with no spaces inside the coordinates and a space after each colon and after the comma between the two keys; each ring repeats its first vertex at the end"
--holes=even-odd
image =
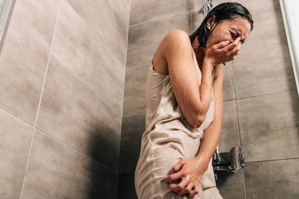
{"type": "MultiPolygon", "coordinates": [[[[213,30],[216,24],[214,24],[215,16],[210,17],[207,21],[207,27],[213,30]]],[[[246,18],[235,18],[230,20],[223,20],[216,25],[212,34],[208,37],[207,48],[220,43],[221,41],[234,42],[235,39],[241,37],[238,46],[243,44],[248,37],[251,30],[251,25],[246,18]]]]}

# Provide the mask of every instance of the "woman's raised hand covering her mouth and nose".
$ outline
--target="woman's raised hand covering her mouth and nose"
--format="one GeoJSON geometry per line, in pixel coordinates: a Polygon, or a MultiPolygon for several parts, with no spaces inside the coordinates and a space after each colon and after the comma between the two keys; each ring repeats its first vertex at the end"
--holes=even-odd
{"type": "Polygon", "coordinates": [[[222,41],[210,47],[205,54],[204,59],[211,62],[213,66],[226,63],[235,59],[241,47],[241,37],[238,37],[233,43],[222,41]]]}

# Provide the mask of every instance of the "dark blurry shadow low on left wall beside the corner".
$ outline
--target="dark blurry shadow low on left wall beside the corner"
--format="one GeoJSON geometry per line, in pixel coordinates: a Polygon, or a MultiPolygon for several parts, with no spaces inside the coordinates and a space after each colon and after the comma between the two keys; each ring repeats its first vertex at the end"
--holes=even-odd
{"type": "MultiPolygon", "coordinates": [[[[115,131],[109,129],[107,126],[102,126],[104,122],[95,122],[86,132],[90,135],[98,135],[90,137],[89,146],[91,158],[99,160],[100,163],[107,165],[109,168],[115,167],[117,169],[118,148],[111,142],[108,137],[115,135],[115,131]],[[103,160],[103,161],[101,161],[103,160]]],[[[111,137],[110,137],[111,138],[111,137]]],[[[117,141],[119,143],[119,141],[117,141]]],[[[90,184],[86,189],[88,190],[87,199],[115,199],[117,187],[117,173],[108,169],[98,163],[91,164],[90,168],[85,171],[89,172],[90,184]]]]}

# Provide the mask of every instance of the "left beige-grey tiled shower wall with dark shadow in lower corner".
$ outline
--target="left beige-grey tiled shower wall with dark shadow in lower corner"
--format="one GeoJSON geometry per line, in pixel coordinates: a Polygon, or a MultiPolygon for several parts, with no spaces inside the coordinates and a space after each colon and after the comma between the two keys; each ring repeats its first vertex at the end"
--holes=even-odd
{"type": "Polygon", "coordinates": [[[0,54],[0,198],[116,198],[129,0],[16,0],[0,54]]]}

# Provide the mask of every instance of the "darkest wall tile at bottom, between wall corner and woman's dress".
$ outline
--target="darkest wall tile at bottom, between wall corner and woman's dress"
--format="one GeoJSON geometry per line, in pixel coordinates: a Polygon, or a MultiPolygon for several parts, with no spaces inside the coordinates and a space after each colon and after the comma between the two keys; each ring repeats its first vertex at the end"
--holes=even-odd
{"type": "Polygon", "coordinates": [[[135,173],[118,174],[117,199],[138,199],[134,184],[135,173]]]}

